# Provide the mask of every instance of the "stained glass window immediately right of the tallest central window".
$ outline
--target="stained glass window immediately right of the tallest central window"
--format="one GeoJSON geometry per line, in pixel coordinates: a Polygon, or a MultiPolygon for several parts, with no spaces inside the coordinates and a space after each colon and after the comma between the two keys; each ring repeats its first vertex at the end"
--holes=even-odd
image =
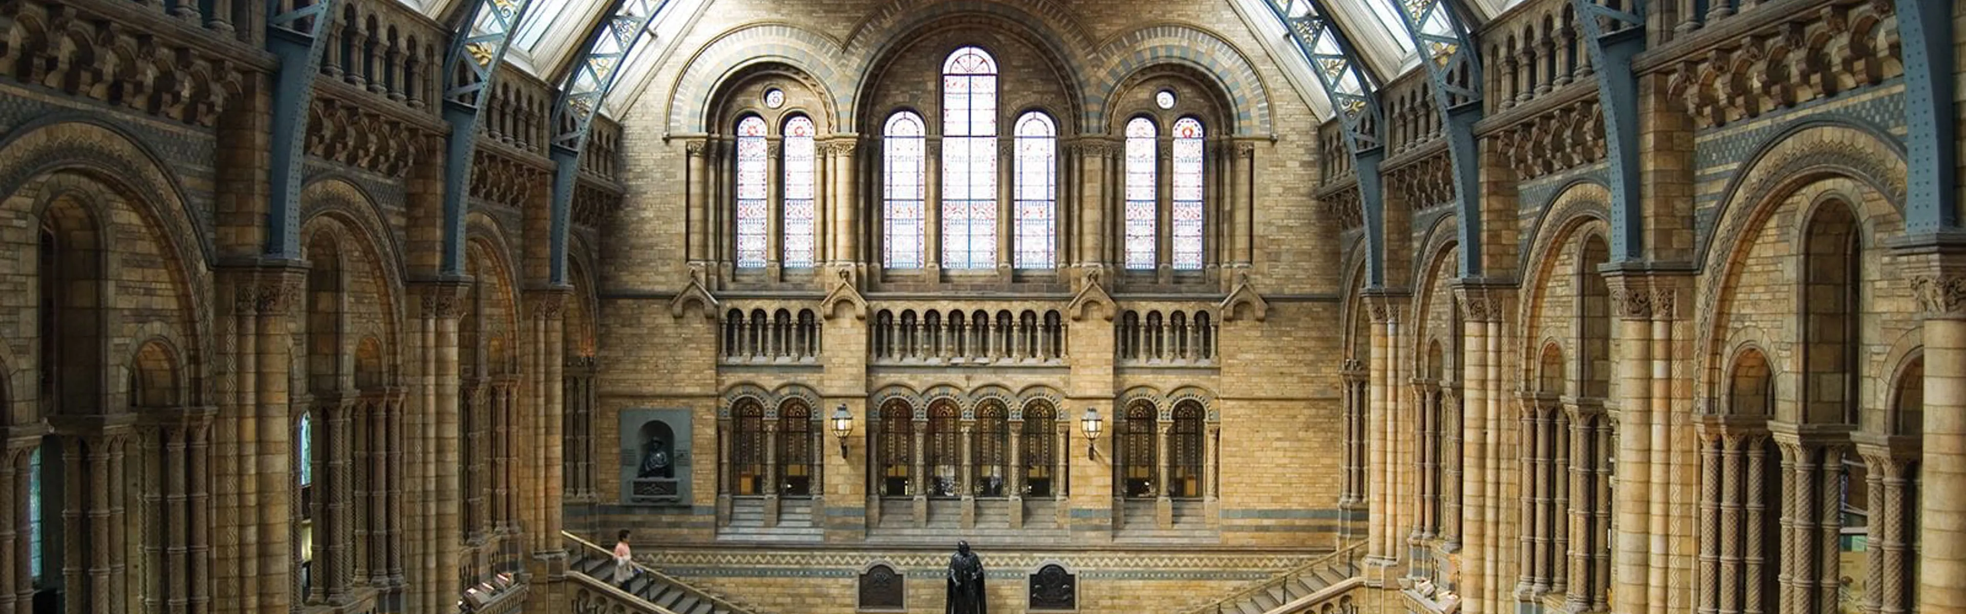
{"type": "Polygon", "coordinates": [[[1042,112],[1016,118],[1016,268],[1058,266],[1058,126],[1042,112]]]}

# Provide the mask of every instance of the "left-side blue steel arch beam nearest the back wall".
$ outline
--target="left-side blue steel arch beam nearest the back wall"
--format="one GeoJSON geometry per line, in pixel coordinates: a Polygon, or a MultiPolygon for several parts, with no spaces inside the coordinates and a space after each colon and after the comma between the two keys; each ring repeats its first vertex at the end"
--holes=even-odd
{"type": "Polygon", "coordinates": [[[649,22],[663,12],[668,0],[613,0],[607,4],[607,18],[594,26],[588,43],[574,57],[574,69],[560,85],[558,100],[552,104],[552,222],[547,283],[566,285],[566,242],[574,209],[574,185],[580,181],[580,154],[588,146],[588,132],[594,116],[602,112],[602,100],[621,77],[627,53],[649,35],[649,22]]]}

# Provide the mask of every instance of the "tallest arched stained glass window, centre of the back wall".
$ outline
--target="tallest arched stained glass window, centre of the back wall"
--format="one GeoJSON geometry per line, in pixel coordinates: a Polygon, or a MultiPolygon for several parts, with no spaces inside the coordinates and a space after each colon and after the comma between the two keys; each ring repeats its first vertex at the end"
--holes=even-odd
{"type": "Polygon", "coordinates": [[[997,266],[997,61],[977,47],[942,63],[942,266],[997,266]]]}

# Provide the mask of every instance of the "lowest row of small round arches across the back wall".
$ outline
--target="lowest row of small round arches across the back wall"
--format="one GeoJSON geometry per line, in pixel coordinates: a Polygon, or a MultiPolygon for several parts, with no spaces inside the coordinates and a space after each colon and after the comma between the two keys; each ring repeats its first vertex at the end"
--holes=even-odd
{"type": "MultiPolygon", "coordinates": [[[[1221,425],[1209,409],[1211,396],[1193,388],[1172,394],[1128,390],[1107,401],[1119,411],[1111,417],[1113,459],[1105,460],[1123,476],[1111,496],[1128,508],[1144,506],[1132,523],[1156,527],[1156,504],[1168,512],[1178,506],[1180,512],[1168,518],[1180,520],[1182,527],[1213,522],[1203,518],[1201,508],[1217,498],[1219,488],[1215,451],[1221,425]]],[[[1056,506],[1073,494],[1071,462],[1099,460],[1073,460],[1073,443],[1087,437],[1081,421],[1097,409],[1075,413],[1050,388],[1011,394],[1001,386],[967,392],[893,386],[875,392],[865,405],[867,425],[853,429],[863,447],[838,445],[841,453],[867,455],[867,474],[859,478],[865,480],[875,529],[922,527],[938,514],[959,514],[961,525],[973,527],[979,506],[999,508],[999,518],[1003,508],[1016,508],[1009,518],[1022,523],[1040,510],[1060,510],[1056,506]]],[[[725,392],[718,411],[720,523],[731,522],[733,508],[753,506],[773,516],[767,518],[771,525],[786,520],[777,516],[788,500],[822,498],[828,488],[820,455],[830,455],[832,443],[841,437],[828,431],[828,417],[810,388],[782,386],[767,394],[735,386],[725,392]]],[[[938,525],[948,523],[936,520],[938,525]]],[[[1050,518],[1042,522],[1052,523],[1050,518]]]]}

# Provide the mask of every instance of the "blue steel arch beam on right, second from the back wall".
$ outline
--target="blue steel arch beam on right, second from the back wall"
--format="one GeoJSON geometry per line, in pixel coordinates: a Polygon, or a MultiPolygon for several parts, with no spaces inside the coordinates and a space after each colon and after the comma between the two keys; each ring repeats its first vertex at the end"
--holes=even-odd
{"type": "Polygon", "coordinates": [[[1474,150],[1474,122],[1482,116],[1480,59],[1474,35],[1451,0],[1392,2],[1414,37],[1419,63],[1433,83],[1433,102],[1441,112],[1447,159],[1453,165],[1455,215],[1461,216],[1461,276],[1482,274],[1480,262],[1480,157],[1474,150]]]}

